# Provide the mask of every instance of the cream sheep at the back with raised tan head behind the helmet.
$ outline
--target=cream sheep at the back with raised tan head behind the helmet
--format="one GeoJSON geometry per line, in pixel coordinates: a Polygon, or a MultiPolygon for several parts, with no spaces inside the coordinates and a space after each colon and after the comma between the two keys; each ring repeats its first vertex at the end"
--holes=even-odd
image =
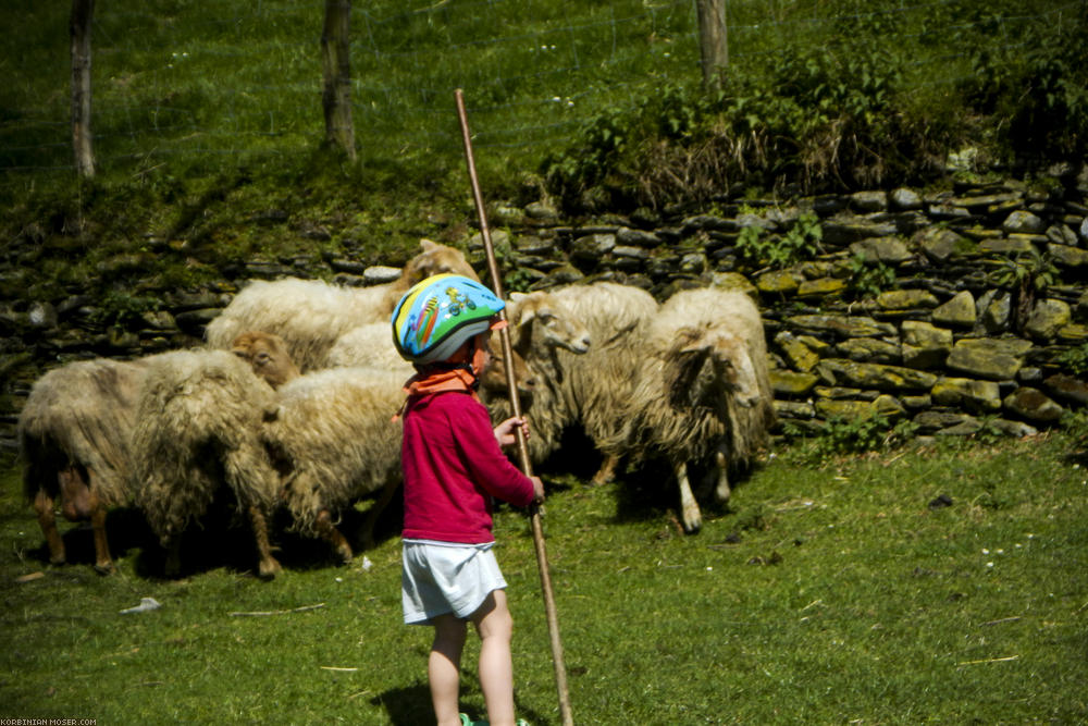
{"type": "Polygon", "coordinates": [[[357,325],[387,321],[401,295],[432,274],[455,272],[479,280],[460,250],[423,239],[400,279],[370,287],[342,287],[287,278],[250,282],[205,331],[208,345],[227,348],[246,330],[275,333],[302,372],[320,366],[341,335],[357,325]]]}

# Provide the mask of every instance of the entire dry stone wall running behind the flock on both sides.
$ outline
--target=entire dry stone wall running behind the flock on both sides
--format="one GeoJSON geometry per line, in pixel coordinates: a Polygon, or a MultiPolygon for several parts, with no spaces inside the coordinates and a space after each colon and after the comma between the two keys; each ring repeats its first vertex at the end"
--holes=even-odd
{"type": "MultiPolygon", "coordinates": [[[[1088,350],[1088,172],[932,194],[722,199],[578,223],[544,204],[496,205],[490,222],[508,287],[615,280],[658,299],[688,286],[750,292],[764,315],[783,430],[878,414],[911,420],[923,434],[990,427],[1019,435],[1088,403],[1088,383],[1062,362],[1088,350]],[[753,260],[753,238],[768,249],[800,238],[802,258],[753,260]]],[[[479,236],[468,245],[483,269],[479,236]]],[[[14,448],[22,402],[45,369],[199,344],[248,279],[364,285],[398,274],[360,263],[349,244],[341,249],[252,260],[199,290],[144,291],[163,305],[125,327],[103,323],[78,291],[25,303],[0,284],[0,447],[14,448]]],[[[10,255],[18,254],[16,244],[10,255]]]]}

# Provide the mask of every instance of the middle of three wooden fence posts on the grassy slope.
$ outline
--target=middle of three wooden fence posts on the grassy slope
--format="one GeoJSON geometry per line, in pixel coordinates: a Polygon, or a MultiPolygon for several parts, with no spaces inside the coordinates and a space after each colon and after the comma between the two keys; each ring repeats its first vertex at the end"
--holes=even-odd
{"type": "Polygon", "coordinates": [[[325,111],[325,140],[338,146],[355,161],[355,127],[351,123],[351,63],[348,21],[351,0],[325,0],[325,28],[321,35],[325,111]]]}

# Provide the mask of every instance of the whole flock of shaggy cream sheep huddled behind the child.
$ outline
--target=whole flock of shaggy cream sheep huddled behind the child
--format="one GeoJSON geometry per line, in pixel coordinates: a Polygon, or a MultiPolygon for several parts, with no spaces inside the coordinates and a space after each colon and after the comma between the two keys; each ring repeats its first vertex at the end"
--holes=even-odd
{"type": "MultiPolygon", "coordinates": [[[[400,483],[400,431],[392,417],[412,374],[392,344],[390,316],[416,282],[442,272],[478,279],[460,251],[430,241],[399,280],[371,287],[256,281],[207,330],[207,346],[53,369],[20,416],[24,488],[52,563],[65,561],[55,522],[89,519],[96,569],[113,569],[111,507],[135,506],[181,567],[186,528],[226,491],[248,519],[258,573],[272,578],[270,519],[277,507],[299,532],[343,561],[351,545],[338,515],[378,497],[364,545],[400,483]]],[[[499,356],[481,395],[509,416],[505,366],[515,368],[530,421],[530,456],[554,455],[581,427],[603,457],[595,483],[627,460],[666,462],[683,526],[701,526],[689,467],[719,501],[729,477],[767,443],[774,408],[763,324],[739,292],[701,288],[664,304],[608,282],[510,296],[514,360],[499,356]]],[[[495,346],[495,353],[498,354],[495,346]]]]}

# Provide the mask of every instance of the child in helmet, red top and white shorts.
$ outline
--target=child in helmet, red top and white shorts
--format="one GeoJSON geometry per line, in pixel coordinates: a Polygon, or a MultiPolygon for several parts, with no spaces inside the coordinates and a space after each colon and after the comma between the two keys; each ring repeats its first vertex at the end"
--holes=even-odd
{"type": "MultiPolygon", "coordinates": [[[[492,497],[516,506],[544,499],[499,446],[521,419],[491,427],[475,390],[491,361],[491,331],[505,307],[478,282],[453,274],[423,280],[393,312],[397,352],[417,373],[403,409],[405,623],[434,626],[428,660],[438,726],[471,724],[458,714],[466,622],[480,635],[480,687],[491,726],[514,726],[514,622],[506,581],[492,552],[492,497]]],[[[517,722],[523,724],[524,722],[517,722]]]]}

